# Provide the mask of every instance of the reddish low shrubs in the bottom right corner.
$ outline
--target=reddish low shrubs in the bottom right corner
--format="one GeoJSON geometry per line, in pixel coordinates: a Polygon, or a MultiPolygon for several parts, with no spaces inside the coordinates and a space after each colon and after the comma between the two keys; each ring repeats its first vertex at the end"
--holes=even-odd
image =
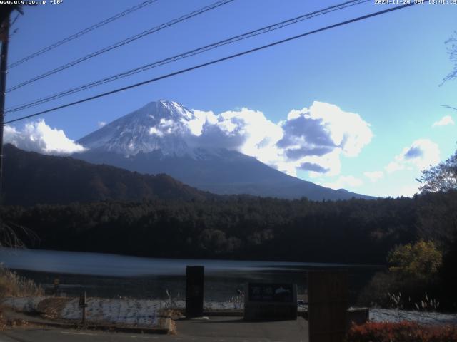
{"type": "Polygon", "coordinates": [[[457,342],[457,326],[368,322],[352,326],[347,342],[457,342]]]}

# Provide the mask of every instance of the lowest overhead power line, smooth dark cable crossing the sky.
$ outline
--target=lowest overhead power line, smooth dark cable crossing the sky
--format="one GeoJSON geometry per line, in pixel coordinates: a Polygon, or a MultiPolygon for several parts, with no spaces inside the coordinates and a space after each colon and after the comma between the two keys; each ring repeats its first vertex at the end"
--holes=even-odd
{"type": "Polygon", "coordinates": [[[413,5],[415,5],[415,3],[411,2],[410,4],[404,4],[404,5],[401,5],[401,6],[392,7],[390,9],[384,9],[383,11],[377,11],[377,12],[374,12],[374,13],[371,13],[371,14],[366,14],[364,16],[358,16],[357,18],[349,19],[349,20],[346,20],[346,21],[341,21],[338,24],[333,24],[333,25],[325,26],[323,28],[318,28],[316,30],[309,31],[309,32],[306,32],[306,33],[301,33],[298,36],[293,36],[293,37],[290,37],[290,38],[282,39],[281,41],[275,41],[273,43],[269,43],[269,44],[260,46],[258,48],[252,48],[251,50],[243,51],[243,52],[240,52],[240,53],[235,53],[235,54],[233,54],[231,56],[226,56],[226,57],[223,57],[223,58],[215,59],[213,61],[209,61],[209,62],[206,62],[206,63],[203,63],[203,64],[199,64],[197,66],[192,66],[191,68],[181,69],[180,71],[175,71],[174,73],[168,73],[168,74],[163,75],[163,76],[159,76],[159,77],[156,77],[156,78],[151,78],[151,79],[149,79],[147,81],[135,83],[135,84],[132,84],[130,86],[126,86],[126,87],[123,87],[123,88],[118,88],[116,90],[111,90],[111,91],[108,91],[106,93],[101,93],[99,95],[94,95],[94,96],[91,96],[89,98],[84,98],[82,100],[74,101],[72,103],[66,103],[65,105],[59,105],[57,107],[50,108],[50,109],[47,109],[47,110],[42,110],[41,112],[34,113],[34,114],[31,114],[31,115],[25,115],[25,116],[22,116],[20,118],[16,118],[16,119],[13,119],[13,120],[6,121],[5,124],[7,124],[7,123],[15,123],[16,121],[19,121],[19,120],[32,118],[32,117],[37,116],[37,115],[53,112],[55,110],[59,110],[59,109],[62,109],[62,108],[67,108],[67,107],[70,107],[72,105],[77,105],[79,103],[88,102],[90,100],[95,100],[96,98],[103,98],[104,96],[111,95],[111,94],[114,94],[114,93],[119,93],[119,92],[121,92],[123,90],[129,90],[131,88],[144,86],[147,83],[153,83],[153,82],[156,82],[156,81],[159,81],[159,80],[163,80],[164,78],[169,78],[171,76],[179,75],[181,73],[187,73],[189,71],[193,71],[193,70],[196,70],[196,69],[199,69],[199,68],[204,68],[205,66],[211,66],[212,64],[216,64],[216,63],[219,63],[219,62],[222,62],[222,61],[228,61],[229,59],[233,59],[233,58],[236,58],[236,57],[244,56],[244,55],[247,55],[248,53],[261,51],[263,49],[271,48],[272,46],[276,46],[276,45],[279,45],[279,44],[282,44],[282,43],[286,43],[288,41],[293,41],[295,39],[302,38],[304,36],[309,36],[309,35],[311,35],[313,33],[318,33],[318,32],[321,32],[321,31],[329,30],[331,28],[336,28],[338,26],[351,24],[351,23],[353,23],[355,21],[361,21],[361,20],[364,20],[364,19],[371,18],[373,16],[379,16],[381,14],[386,14],[388,12],[396,11],[398,9],[404,9],[406,7],[413,6],[413,5]]]}

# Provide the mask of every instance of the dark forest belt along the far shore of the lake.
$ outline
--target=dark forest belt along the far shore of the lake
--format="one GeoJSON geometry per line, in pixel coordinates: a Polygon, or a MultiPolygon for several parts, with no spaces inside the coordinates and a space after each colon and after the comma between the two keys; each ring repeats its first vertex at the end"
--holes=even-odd
{"type": "Polygon", "coordinates": [[[337,202],[227,197],[3,207],[34,230],[35,247],[149,257],[385,264],[397,244],[434,239],[455,249],[457,192],[337,202]]]}

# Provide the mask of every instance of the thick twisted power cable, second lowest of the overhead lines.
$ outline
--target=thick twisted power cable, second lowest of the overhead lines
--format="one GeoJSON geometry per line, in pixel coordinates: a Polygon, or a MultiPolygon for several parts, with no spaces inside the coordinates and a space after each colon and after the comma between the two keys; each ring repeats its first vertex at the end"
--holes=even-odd
{"type": "Polygon", "coordinates": [[[167,63],[171,63],[171,62],[174,62],[174,61],[179,61],[180,59],[184,59],[184,58],[188,58],[188,57],[191,57],[191,56],[195,56],[195,55],[197,55],[199,53],[204,53],[204,52],[212,50],[214,48],[218,48],[219,46],[224,46],[224,45],[227,45],[227,44],[230,44],[230,43],[234,43],[236,41],[241,41],[241,40],[246,39],[246,38],[251,38],[253,36],[258,36],[258,35],[263,34],[263,33],[268,33],[270,31],[277,30],[278,28],[283,28],[283,27],[289,26],[291,24],[296,24],[296,23],[298,23],[300,21],[303,21],[303,20],[306,20],[306,19],[311,19],[314,16],[320,16],[322,14],[328,14],[328,13],[330,13],[332,11],[338,11],[340,9],[344,9],[344,8],[347,8],[347,7],[350,7],[350,6],[363,4],[364,2],[367,2],[367,1],[371,1],[371,0],[351,0],[351,1],[346,1],[346,2],[343,2],[342,4],[338,4],[338,5],[327,7],[326,9],[321,9],[321,10],[318,10],[318,11],[313,11],[313,12],[308,13],[308,14],[303,14],[303,15],[297,16],[296,18],[293,18],[293,19],[288,19],[286,21],[281,21],[280,23],[276,23],[276,24],[273,24],[273,25],[265,26],[263,28],[258,28],[257,30],[249,31],[247,33],[243,33],[243,34],[238,35],[238,36],[233,36],[231,38],[224,39],[223,41],[218,41],[216,43],[211,43],[211,44],[209,44],[207,46],[203,46],[201,48],[196,48],[194,50],[187,51],[185,53],[180,53],[179,55],[176,55],[176,56],[172,56],[172,57],[169,57],[169,58],[162,59],[161,61],[156,61],[156,62],[153,62],[153,63],[149,63],[149,64],[146,64],[145,66],[141,66],[139,68],[134,68],[134,69],[131,69],[129,71],[125,71],[123,73],[118,73],[118,74],[116,74],[114,76],[109,76],[108,78],[102,78],[99,81],[86,83],[83,86],[79,86],[79,87],[76,87],[76,88],[71,88],[69,90],[64,90],[64,91],[62,91],[60,93],[56,93],[54,95],[50,95],[50,96],[47,96],[45,98],[40,98],[39,100],[34,100],[34,101],[30,102],[30,103],[17,105],[14,108],[9,108],[8,110],[6,110],[6,113],[14,113],[14,112],[17,112],[19,110],[24,110],[26,108],[34,107],[36,105],[41,105],[41,104],[47,103],[47,102],[49,102],[51,100],[56,100],[58,98],[63,98],[64,96],[72,95],[74,93],[79,93],[80,91],[83,91],[83,90],[86,90],[86,89],[89,89],[89,88],[94,88],[96,86],[100,86],[100,85],[102,85],[104,83],[109,83],[111,81],[116,81],[119,78],[125,78],[127,76],[131,76],[131,75],[134,75],[136,73],[141,73],[143,71],[147,71],[147,70],[149,70],[151,68],[156,68],[158,66],[163,66],[164,64],[167,64],[167,63]]]}

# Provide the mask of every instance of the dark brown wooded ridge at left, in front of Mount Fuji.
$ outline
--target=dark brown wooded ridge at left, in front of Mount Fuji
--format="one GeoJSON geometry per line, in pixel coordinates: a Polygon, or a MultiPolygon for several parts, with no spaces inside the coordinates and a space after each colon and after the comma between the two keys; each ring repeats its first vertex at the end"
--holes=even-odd
{"type": "Polygon", "coordinates": [[[68,204],[105,199],[204,199],[201,192],[168,175],[141,175],[71,157],[54,157],[4,146],[4,203],[68,204]]]}

